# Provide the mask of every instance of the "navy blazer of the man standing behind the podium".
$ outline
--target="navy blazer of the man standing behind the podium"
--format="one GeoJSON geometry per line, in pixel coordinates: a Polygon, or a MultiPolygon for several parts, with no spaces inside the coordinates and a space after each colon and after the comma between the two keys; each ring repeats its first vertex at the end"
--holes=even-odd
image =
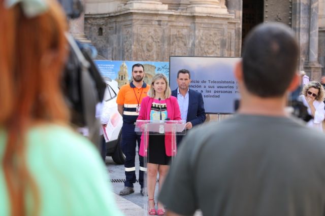
{"type": "MultiPolygon", "coordinates": [[[[177,89],[172,91],[172,96],[177,98],[177,89]]],[[[202,124],[205,121],[205,110],[203,97],[200,92],[188,90],[188,111],[186,122],[191,122],[192,126],[202,124]]],[[[177,144],[182,140],[183,136],[177,137],[177,144]]]]}

